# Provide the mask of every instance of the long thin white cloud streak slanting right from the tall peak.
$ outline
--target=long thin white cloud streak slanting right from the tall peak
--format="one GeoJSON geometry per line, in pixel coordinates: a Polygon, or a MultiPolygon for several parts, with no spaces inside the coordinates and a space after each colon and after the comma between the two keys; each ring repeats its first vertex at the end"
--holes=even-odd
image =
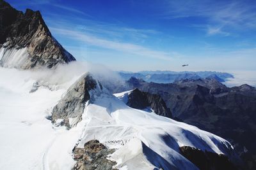
{"type": "Polygon", "coordinates": [[[152,50],[150,48],[146,48],[140,45],[134,45],[132,43],[125,43],[120,41],[110,41],[108,39],[97,38],[95,36],[86,34],[80,31],[73,31],[70,29],[60,29],[60,28],[50,28],[52,31],[56,32],[56,34],[61,34],[65,36],[70,36],[70,38],[86,43],[90,46],[98,46],[100,48],[108,48],[111,50],[116,50],[125,53],[131,53],[134,55],[140,55],[142,57],[151,57],[155,59],[162,60],[171,60],[172,56],[170,53],[161,52],[152,50]]]}

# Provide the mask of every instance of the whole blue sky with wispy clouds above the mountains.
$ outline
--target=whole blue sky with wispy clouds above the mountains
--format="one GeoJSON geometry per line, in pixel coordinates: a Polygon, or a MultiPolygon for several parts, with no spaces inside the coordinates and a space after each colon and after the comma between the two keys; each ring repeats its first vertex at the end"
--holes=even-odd
{"type": "Polygon", "coordinates": [[[52,35],[77,60],[113,70],[256,70],[255,1],[8,3],[40,10],[52,35]]]}

